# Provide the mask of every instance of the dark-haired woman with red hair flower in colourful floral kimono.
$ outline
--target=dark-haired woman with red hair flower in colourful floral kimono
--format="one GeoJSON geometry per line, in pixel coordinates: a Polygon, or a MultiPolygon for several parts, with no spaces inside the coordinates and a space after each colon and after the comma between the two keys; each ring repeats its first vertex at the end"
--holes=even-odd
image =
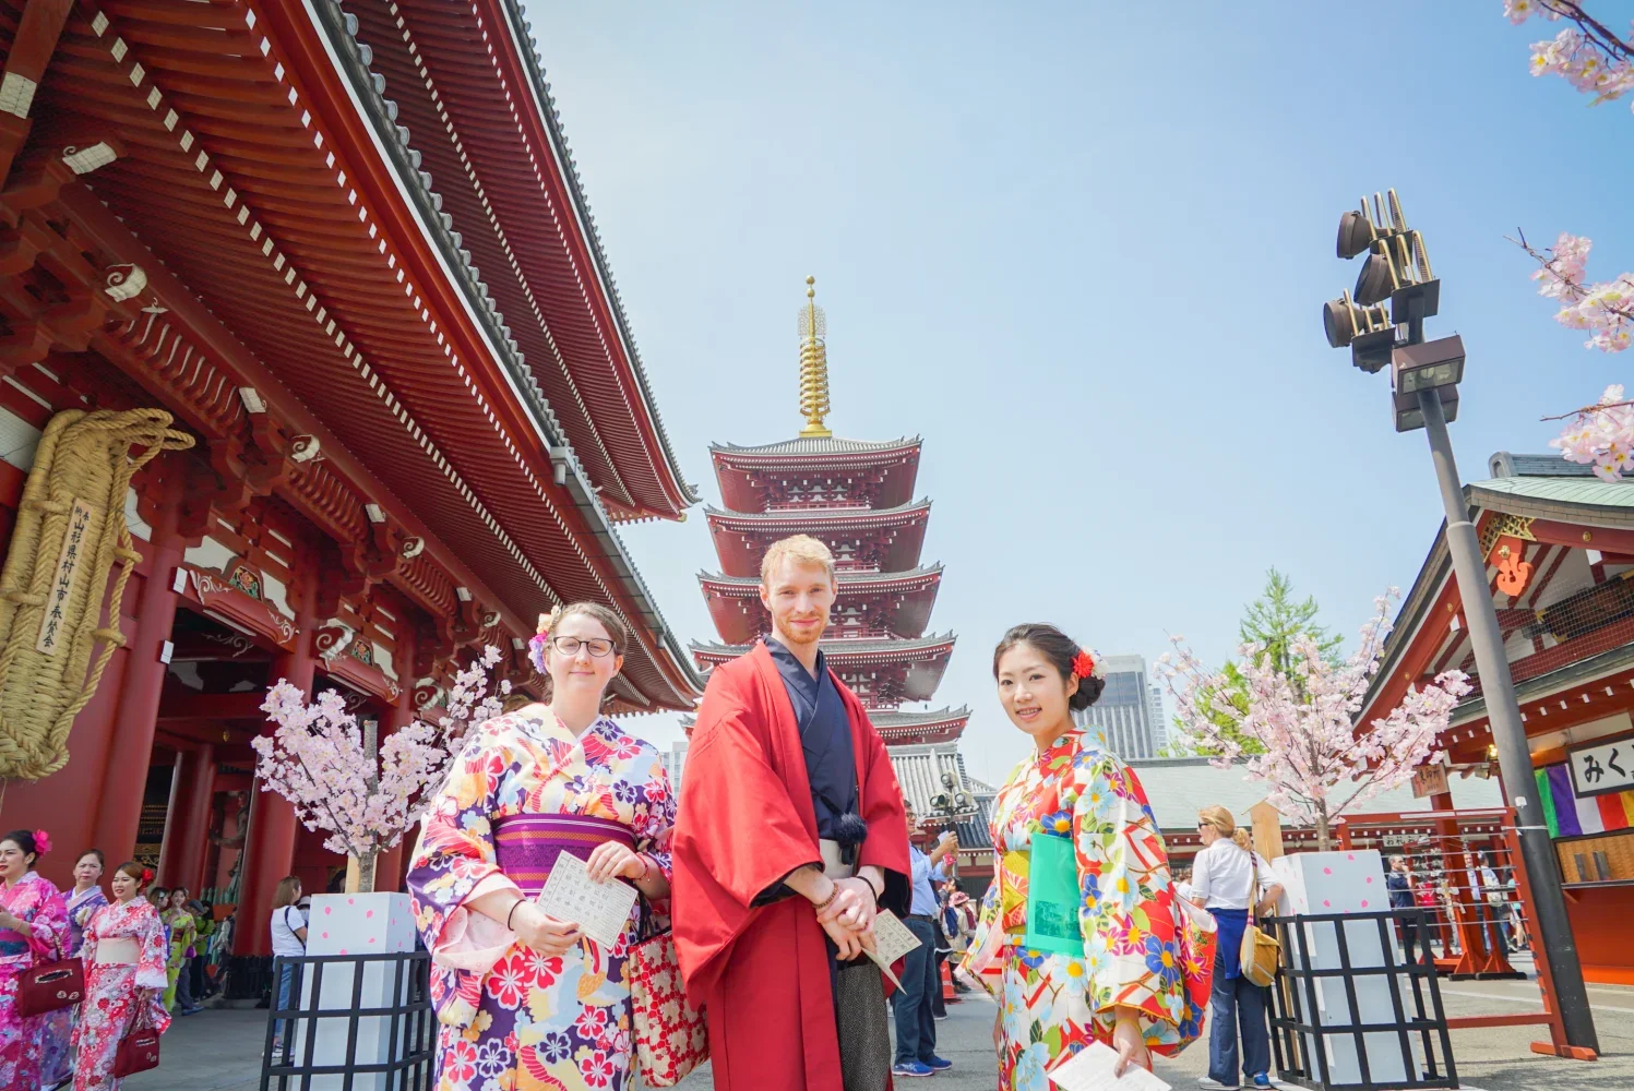
{"type": "Polygon", "coordinates": [[[997,882],[964,959],[998,1000],[1002,1091],[1051,1091],[1046,1073],[1092,1040],[1118,1050],[1121,1073],[1150,1068],[1149,1052],[1178,1053],[1201,1031],[1209,964],[1186,934],[1145,792],[1098,732],[1072,722],[1100,697],[1101,675],[1054,626],[1016,626],[993,652],[998,699],[1036,748],[993,802],[997,882]],[[1069,841],[1074,905],[1059,929],[1062,946],[1082,942],[1082,957],[1025,942],[1039,835],[1069,841]]]}

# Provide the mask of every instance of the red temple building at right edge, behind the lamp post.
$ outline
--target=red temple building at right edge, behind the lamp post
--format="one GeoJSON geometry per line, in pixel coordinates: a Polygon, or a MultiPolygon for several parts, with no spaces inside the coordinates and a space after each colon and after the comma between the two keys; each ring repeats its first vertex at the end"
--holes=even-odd
{"type": "MultiPolygon", "coordinates": [[[[1466,487],[1520,697],[1583,975],[1634,983],[1634,483],[1559,456],[1495,454],[1466,487]]],[[[1404,599],[1358,722],[1456,666],[1476,686],[1443,737],[1454,771],[1495,759],[1444,537],[1404,599]]],[[[1431,797],[1440,812],[1451,795],[1431,797]]],[[[1451,830],[1449,830],[1451,833],[1451,830]]]]}

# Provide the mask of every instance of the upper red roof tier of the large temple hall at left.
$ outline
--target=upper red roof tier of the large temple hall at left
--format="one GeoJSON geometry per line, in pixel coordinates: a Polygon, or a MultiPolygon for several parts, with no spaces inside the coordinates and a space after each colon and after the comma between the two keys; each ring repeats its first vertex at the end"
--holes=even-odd
{"type": "Polygon", "coordinates": [[[680,475],[518,2],[315,7],[356,18],[394,126],[608,511],[678,518],[698,495],[680,475]]]}

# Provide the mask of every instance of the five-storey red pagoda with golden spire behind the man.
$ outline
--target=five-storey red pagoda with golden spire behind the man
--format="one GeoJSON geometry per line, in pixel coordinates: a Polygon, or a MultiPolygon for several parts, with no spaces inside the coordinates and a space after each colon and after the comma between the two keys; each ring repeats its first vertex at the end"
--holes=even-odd
{"type": "MultiPolygon", "coordinates": [[[[801,307],[801,413],[792,439],[709,449],[722,508],[709,508],[719,573],[701,573],[721,643],[693,643],[703,668],[737,658],[770,632],[760,603],[760,559],[791,534],[810,534],[835,555],[838,596],[824,655],[869,709],[891,748],[897,777],[922,818],[935,795],[969,792],[958,740],[969,709],[905,709],[928,702],[953,655],[953,634],[935,634],[930,614],[941,565],[920,550],[930,500],[915,500],[920,439],[842,439],[828,415],[827,332],[815,289],[801,307]],[[948,774],[954,786],[949,787],[948,774]]],[[[971,828],[971,822],[961,828],[971,828]]],[[[980,836],[985,839],[985,828],[980,836]]]]}

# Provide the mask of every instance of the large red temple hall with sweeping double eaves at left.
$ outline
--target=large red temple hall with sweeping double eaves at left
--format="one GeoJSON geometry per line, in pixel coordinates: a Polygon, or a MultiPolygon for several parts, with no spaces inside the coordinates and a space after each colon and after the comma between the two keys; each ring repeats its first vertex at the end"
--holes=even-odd
{"type": "Polygon", "coordinates": [[[124,497],[118,647],[57,751],[0,679],[0,761],[36,753],[0,823],[52,833],[51,879],[147,857],[265,951],[273,884],[343,862],[253,790],[268,683],[391,732],[484,645],[534,688],[559,601],[629,622],[623,710],[691,707],[616,528],[696,497],[516,0],[0,0],[0,544],[34,549],[59,415],[191,439],[124,497]]]}

